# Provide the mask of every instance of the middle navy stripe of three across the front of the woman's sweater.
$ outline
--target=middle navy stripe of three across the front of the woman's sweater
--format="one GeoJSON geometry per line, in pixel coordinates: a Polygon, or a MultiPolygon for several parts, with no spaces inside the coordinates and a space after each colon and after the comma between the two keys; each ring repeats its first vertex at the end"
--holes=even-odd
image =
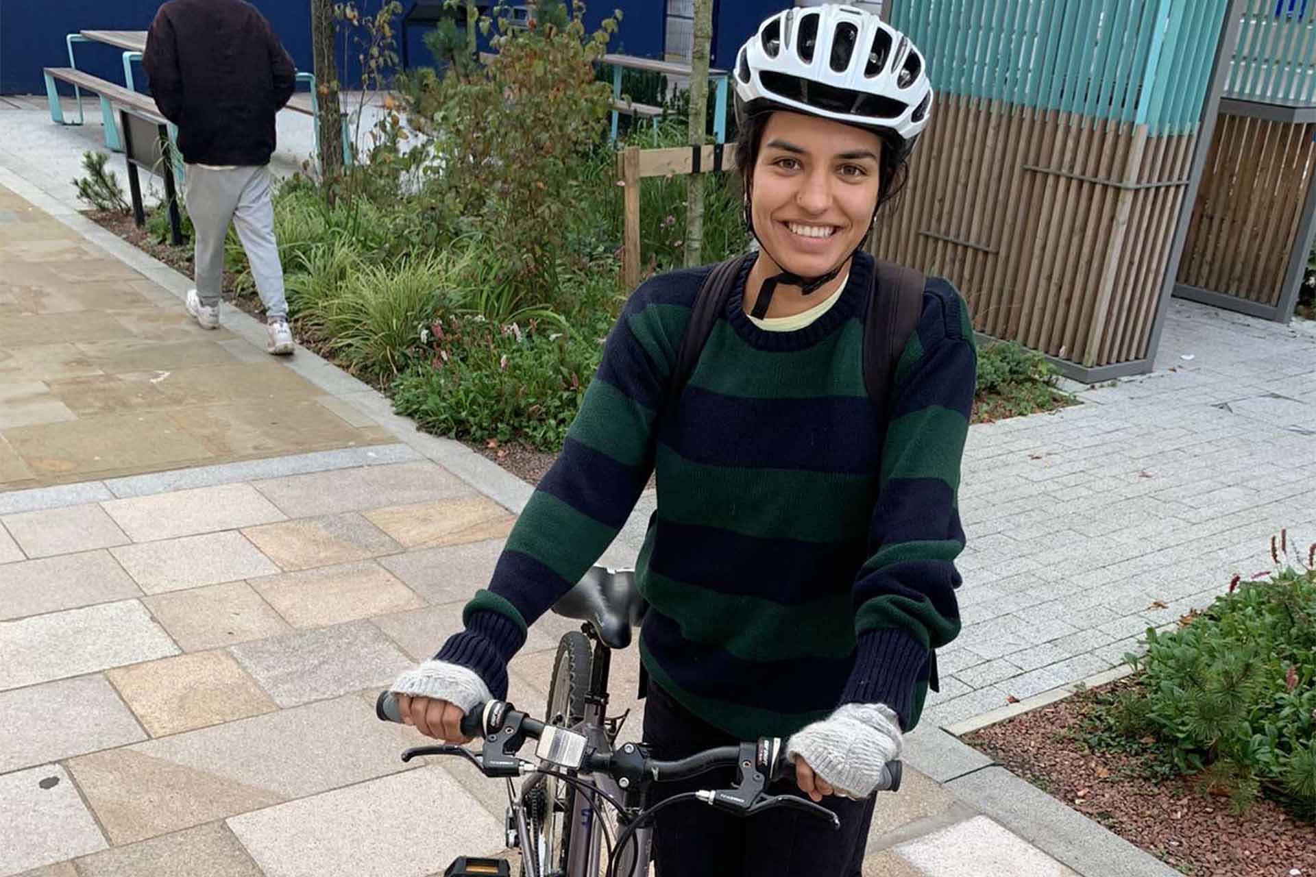
{"type": "Polygon", "coordinates": [[[661,576],[737,597],[783,605],[849,593],[867,559],[862,540],[759,539],[657,518],[649,568],[661,576]],[[709,563],[717,557],[717,563],[709,563]]]}

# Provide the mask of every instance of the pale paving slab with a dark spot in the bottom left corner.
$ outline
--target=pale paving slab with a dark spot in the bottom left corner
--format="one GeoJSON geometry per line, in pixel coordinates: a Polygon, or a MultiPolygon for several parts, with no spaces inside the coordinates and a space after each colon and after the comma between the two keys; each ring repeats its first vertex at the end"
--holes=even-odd
{"type": "Polygon", "coordinates": [[[0,877],[105,848],[59,765],[0,774],[0,877]]]}

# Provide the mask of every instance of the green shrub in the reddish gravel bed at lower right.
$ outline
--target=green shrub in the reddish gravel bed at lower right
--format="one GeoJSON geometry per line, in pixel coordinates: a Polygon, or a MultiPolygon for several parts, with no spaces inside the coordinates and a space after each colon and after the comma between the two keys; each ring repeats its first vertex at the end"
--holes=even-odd
{"type": "Polygon", "coordinates": [[[1316,572],[1236,579],[1179,630],[1149,628],[1146,644],[1126,657],[1144,672],[1112,707],[1120,726],[1152,732],[1180,773],[1205,772],[1240,806],[1266,792],[1316,820],[1316,572]]]}

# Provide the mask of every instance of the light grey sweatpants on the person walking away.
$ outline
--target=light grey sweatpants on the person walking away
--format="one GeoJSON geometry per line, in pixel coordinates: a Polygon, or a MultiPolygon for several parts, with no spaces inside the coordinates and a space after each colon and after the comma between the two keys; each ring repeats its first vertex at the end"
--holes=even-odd
{"type": "Polygon", "coordinates": [[[196,229],[196,295],[203,305],[220,302],[224,279],[224,239],[229,222],[238,229],[265,302],[267,320],[287,318],[283,295],[283,266],[274,241],[274,204],[270,200],[268,167],[213,170],[187,166],[187,213],[196,229]]]}

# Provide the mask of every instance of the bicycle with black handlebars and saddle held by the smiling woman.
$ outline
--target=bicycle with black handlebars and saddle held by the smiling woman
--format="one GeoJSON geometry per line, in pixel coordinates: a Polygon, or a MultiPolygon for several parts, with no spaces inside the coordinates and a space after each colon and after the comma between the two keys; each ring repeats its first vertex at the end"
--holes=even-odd
{"type": "MultiPolygon", "coordinates": [[[[632,627],[646,606],[632,571],[595,567],[557,605],[555,614],[584,622],[558,643],[545,721],[490,701],[462,719],[462,734],[484,738],[479,755],[462,746],[422,746],[403,752],[403,761],[425,755],[457,756],[484,776],[507,781],[507,841],[521,851],[522,877],[647,877],[654,817],[680,802],[699,801],[753,817],[774,807],[794,807],[841,823],[830,810],[795,795],[766,794],[770,784],[794,776],[778,738],[719,747],[675,761],[650,757],[644,743],[615,748],[624,714],[607,717],[612,651],[630,644],[632,627]],[[587,681],[588,680],[588,681],[587,681]],[[536,761],[520,757],[536,740],[536,761]],[[545,767],[547,765],[547,767],[545,767]],[[734,768],[736,784],[666,798],[649,806],[654,784],[687,780],[719,768],[734,768]],[[526,777],[520,789],[513,778],[526,777]],[[605,815],[600,801],[611,805],[605,815]],[[630,844],[629,859],[624,855],[630,844]]],[[[382,721],[399,722],[397,703],[383,692],[375,705],[382,721]]],[[[900,788],[901,764],[887,765],[878,789],[900,788]]],[[[503,860],[462,857],[447,874],[508,874],[503,860]]]]}

